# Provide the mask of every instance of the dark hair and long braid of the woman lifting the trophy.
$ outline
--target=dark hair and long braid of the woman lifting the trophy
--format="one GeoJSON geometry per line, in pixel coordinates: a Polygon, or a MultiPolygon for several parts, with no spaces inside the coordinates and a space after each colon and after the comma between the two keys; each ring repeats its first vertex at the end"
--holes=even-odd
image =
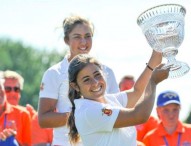
{"type": "MultiPolygon", "coordinates": [[[[69,68],[68,68],[69,82],[75,83],[77,85],[78,73],[88,64],[95,64],[100,69],[102,69],[101,64],[90,55],[88,54],[77,55],[71,60],[69,68]]],[[[69,138],[71,143],[77,143],[80,140],[80,135],[75,125],[75,116],[74,116],[74,112],[75,112],[74,100],[79,98],[81,98],[80,93],[70,86],[69,99],[72,103],[72,111],[70,113],[67,125],[69,127],[69,138]]]]}

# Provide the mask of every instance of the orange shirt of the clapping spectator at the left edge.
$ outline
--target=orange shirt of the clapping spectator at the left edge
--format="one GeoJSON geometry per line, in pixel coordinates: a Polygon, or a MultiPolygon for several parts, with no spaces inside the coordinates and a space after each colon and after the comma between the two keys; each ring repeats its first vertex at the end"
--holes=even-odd
{"type": "Polygon", "coordinates": [[[5,112],[0,116],[0,131],[4,129],[5,114],[6,126],[17,131],[16,140],[20,144],[31,146],[31,118],[28,111],[6,103],[5,112]]]}

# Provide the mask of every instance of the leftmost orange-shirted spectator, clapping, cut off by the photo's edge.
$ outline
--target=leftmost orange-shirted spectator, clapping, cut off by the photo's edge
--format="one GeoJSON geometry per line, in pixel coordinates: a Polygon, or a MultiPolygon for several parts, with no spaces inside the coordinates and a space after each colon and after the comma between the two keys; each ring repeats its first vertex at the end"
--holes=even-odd
{"type": "Polygon", "coordinates": [[[18,145],[31,146],[30,115],[23,108],[8,103],[3,79],[0,79],[0,146],[18,145]]]}

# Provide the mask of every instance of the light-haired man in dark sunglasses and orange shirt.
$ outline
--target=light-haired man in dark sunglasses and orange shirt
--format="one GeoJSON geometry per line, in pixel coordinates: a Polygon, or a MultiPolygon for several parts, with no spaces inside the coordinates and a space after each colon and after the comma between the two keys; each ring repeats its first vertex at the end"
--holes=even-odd
{"type": "Polygon", "coordinates": [[[46,146],[52,142],[52,129],[40,128],[37,119],[37,111],[30,105],[27,104],[26,107],[20,106],[19,101],[21,98],[21,90],[23,89],[24,78],[15,71],[4,71],[4,86],[6,91],[7,100],[12,105],[17,105],[21,108],[27,110],[32,119],[32,144],[46,146]],[[12,90],[14,89],[14,90],[12,90]]]}

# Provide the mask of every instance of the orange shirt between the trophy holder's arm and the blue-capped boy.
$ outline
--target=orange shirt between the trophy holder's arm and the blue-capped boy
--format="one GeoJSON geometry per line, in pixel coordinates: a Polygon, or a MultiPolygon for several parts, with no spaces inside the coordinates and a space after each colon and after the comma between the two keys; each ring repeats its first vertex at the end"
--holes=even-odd
{"type": "Polygon", "coordinates": [[[159,120],[153,116],[150,116],[148,121],[144,124],[136,125],[137,140],[143,141],[143,138],[147,132],[157,127],[159,120]]]}

